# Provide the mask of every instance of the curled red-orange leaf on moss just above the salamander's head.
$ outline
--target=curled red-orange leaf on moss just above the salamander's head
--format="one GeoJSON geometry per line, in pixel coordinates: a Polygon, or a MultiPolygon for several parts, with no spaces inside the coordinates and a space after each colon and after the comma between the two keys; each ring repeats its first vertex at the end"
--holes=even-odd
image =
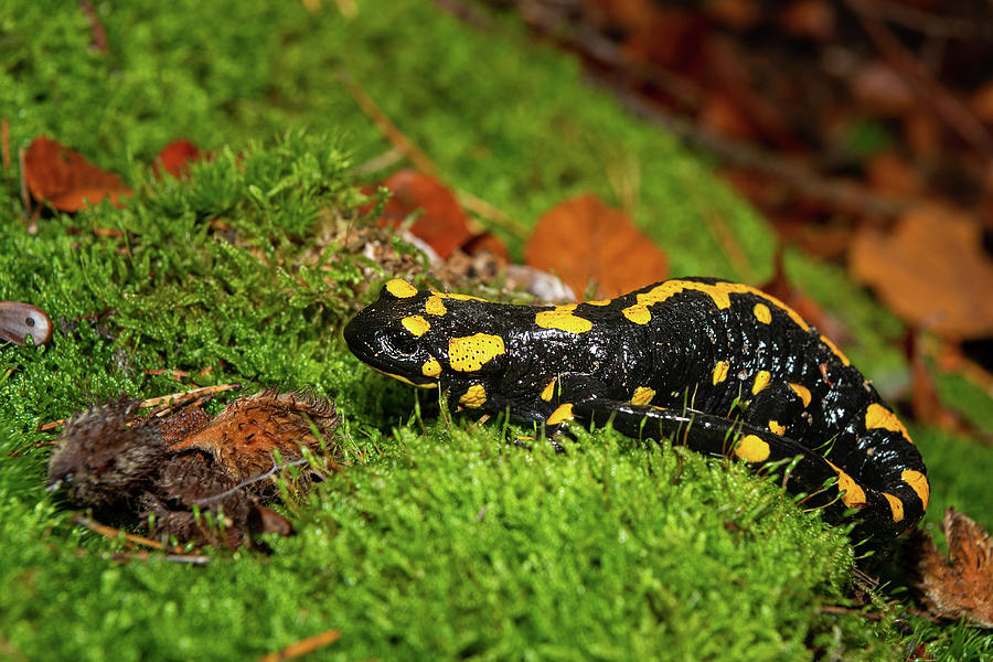
{"type": "Polygon", "coordinates": [[[396,227],[410,214],[420,211],[421,214],[410,226],[410,233],[430,245],[441,259],[472,236],[466,213],[456,196],[437,179],[414,170],[398,170],[383,185],[393,195],[380,223],[396,227]]]}

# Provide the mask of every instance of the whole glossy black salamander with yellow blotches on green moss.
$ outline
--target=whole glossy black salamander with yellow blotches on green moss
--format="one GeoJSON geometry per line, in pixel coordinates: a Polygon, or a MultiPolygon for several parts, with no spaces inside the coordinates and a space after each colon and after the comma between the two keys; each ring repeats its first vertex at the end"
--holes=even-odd
{"type": "Polygon", "coordinates": [[[616,299],[512,306],[391,280],[345,328],[364,363],[453,407],[672,437],[758,469],[784,467],[805,506],[893,538],[928,506],[907,428],[828,338],[779,299],[713,278],[616,299]]]}

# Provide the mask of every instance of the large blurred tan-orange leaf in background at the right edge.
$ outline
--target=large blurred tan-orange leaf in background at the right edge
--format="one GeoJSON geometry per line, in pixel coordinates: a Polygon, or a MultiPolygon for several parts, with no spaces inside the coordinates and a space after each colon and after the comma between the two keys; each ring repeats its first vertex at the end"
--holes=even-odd
{"type": "Polygon", "coordinates": [[[993,263],[980,225],[954,210],[921,205],[889,235],[859,228],[848,269],[910,324],[952,339],[993,334],[993,263]]]}

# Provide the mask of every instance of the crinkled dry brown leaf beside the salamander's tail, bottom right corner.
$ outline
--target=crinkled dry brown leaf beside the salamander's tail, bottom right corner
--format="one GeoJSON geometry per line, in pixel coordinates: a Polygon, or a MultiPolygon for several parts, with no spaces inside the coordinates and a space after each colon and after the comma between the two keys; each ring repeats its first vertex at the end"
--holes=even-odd
{"type": "Polygon", "coordinates": [[[990,534],[954,509],[944,511],[942,525],[948,556],[928,534],[918,538],[920,589],[937,616],[965,617],[993,628],[993,541],[990,534]]]}

